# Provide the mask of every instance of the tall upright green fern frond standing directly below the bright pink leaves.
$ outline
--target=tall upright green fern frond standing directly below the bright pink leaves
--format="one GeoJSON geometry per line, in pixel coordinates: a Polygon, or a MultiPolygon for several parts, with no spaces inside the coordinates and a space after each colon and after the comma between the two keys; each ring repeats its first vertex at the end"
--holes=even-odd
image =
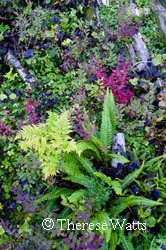
{"type": "Polygon", "coordinates": [[[114,98],[112,92],[109,92],[109,90],[107,89],[100,128],[100,140],[107,148],[110,147],[112,144],[115,128],[116,118],[114,98]]]}

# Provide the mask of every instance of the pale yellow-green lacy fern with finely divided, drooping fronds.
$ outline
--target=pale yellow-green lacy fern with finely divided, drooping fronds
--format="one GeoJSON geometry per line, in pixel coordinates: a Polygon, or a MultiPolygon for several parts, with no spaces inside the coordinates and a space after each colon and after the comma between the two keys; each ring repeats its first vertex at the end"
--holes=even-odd
{"type": "Polygon", "coordinates": [[[49,118],[45,124],[25,126],[16,139],[22,139],[20,146],[23,150],[33,149],[42,164],[44,178],[56,175],[62,167],[60,162],[65,153],[81,154],[76,142],[70,137],[72,126],[69,112],[57,115],[48,112],[49,118]]]}

